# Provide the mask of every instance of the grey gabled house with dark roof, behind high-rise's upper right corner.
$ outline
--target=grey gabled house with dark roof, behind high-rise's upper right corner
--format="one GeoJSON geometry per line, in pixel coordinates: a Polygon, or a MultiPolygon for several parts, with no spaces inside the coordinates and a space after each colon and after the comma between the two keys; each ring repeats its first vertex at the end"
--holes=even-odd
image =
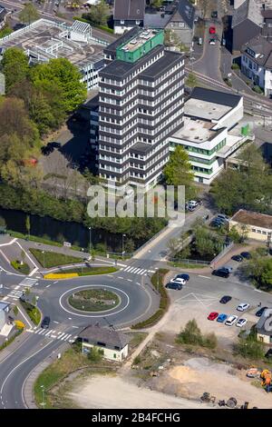
{"type": "Polygon", "coordinates": [[[183,45],[191,45],[196,9],[189,0],[180,0],[177,2],[170,21],[166,25],[167,29],[174,31],[179,36],[183,45]]]}

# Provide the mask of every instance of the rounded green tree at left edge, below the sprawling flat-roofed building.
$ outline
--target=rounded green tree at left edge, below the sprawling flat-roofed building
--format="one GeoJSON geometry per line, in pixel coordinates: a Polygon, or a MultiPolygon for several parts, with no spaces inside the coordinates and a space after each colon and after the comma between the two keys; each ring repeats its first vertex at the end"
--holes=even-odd
{"type": "Polygon", "coordinates": [[[1,69],[5,74],[5,90],[9,94],[13,86],[22,84],[29,72],[28,57],[22,49],[10,47],[5,50],[1,69]]]}

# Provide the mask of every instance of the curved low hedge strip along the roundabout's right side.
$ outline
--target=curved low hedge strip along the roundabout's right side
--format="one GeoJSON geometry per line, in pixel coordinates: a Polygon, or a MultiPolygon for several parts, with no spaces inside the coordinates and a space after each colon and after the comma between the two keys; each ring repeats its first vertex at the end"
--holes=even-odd
{"type": "Polygon", "coordinates": [[[170,304],[170,298],[169,295],[164,287],[163,279],[164,276],[169,272],[169,270],[162,269],[158,270],[158,273],[154,273],[151,277],[151,283],[154,286],[154,288],[157,289],[158,285],[158,275],[159,274],[159,292],[160,292],[160,308],[151,315],[149,319],[146,319],[143,322],[135,323],[131,325],[131,329],[142,329],[142,328],[148,328],[150,326],[153,326],[155,323],[158,323],[162,316],[167,312],[169,304],[170,304]]]}

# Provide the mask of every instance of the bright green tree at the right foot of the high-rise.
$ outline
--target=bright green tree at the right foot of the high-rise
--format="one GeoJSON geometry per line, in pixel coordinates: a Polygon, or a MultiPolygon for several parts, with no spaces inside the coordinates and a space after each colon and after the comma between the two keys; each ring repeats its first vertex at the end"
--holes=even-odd
{"type": "Polygon", "coordinates": [[[184,185],[186,199],[189,200],[197,194],[194,181],[194,174],[189,164],[189,155],[181,145],[178,145],[170,160],[163,169],[165,181],[169,185],[184,185]]]}

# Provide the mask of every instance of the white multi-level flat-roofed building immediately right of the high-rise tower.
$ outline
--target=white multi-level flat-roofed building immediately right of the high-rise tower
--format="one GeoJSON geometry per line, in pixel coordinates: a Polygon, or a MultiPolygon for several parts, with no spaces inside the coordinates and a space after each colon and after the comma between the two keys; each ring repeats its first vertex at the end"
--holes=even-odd
{"type": "Polygon", "coordinates": [[[196,87],[184,105],[184,125],[169,138],[170,151],[182,145],[189,153],[195,181],[210,184],[225,160],[247,140],[238,122],[243,98],[196,87]]]}

